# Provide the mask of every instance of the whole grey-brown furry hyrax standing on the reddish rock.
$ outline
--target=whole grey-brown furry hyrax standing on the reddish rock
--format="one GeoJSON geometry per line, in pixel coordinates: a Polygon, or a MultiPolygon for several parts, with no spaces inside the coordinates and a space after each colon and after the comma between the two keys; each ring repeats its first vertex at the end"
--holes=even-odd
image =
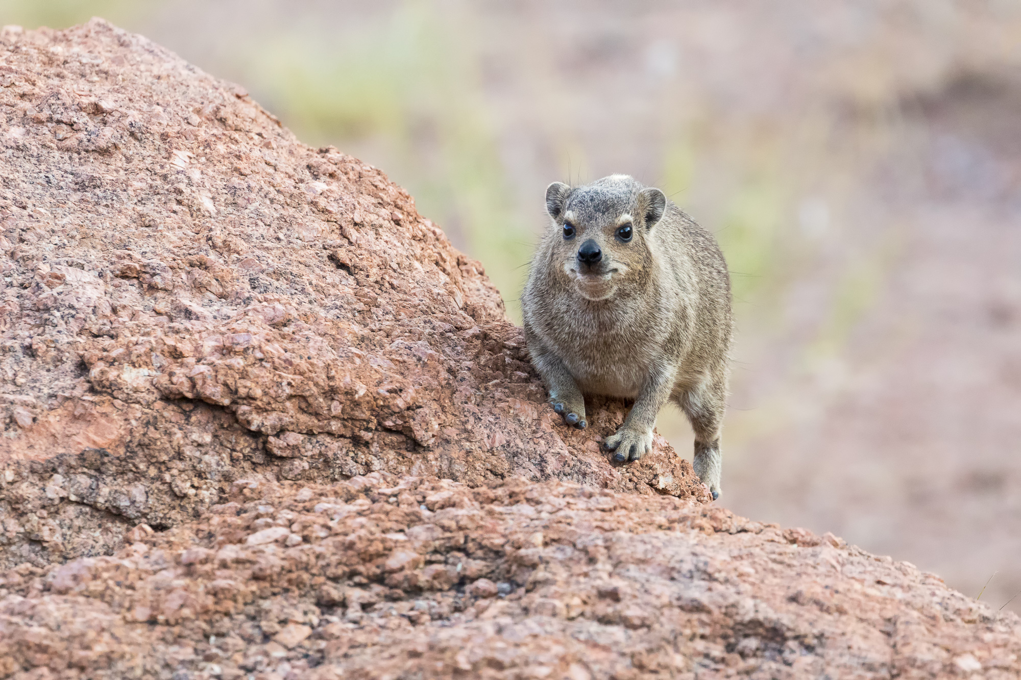
{"type": "Polygon", "coordinates": [[[625,175],[546,189],[552,221],[522,297],[532,361],[553,410],[587,426],[584,394],[634,399],[605,441],[618,462],[652,448],[673,400],[695,433],[694,469],[720,494],[732,320],[713,236],[659,189],[625,175]]]}

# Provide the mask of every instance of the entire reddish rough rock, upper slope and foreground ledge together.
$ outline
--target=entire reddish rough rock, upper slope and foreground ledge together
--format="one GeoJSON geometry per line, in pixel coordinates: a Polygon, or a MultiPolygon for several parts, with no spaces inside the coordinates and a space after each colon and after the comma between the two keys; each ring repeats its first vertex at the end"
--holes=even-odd
{"type": "Polygon", "coordinates": [[[0,678],[1016,678],[1021,622],[543,405],[378,171],[102,21],[0,36],[0,678]],[[445,479],[440,479],[445,478],[445,479]]]}

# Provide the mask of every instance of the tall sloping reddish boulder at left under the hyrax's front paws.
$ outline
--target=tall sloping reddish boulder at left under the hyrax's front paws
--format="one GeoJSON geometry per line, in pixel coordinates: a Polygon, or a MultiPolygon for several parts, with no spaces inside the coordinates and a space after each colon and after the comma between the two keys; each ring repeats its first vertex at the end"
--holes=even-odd
{"type": "Polygon", "coordinates": [[[0,565],[109,552],[239,477],[508,475],[704,498],[544,404],[482,268],[378,169],[99,20],[0,40],[0,565]]]}

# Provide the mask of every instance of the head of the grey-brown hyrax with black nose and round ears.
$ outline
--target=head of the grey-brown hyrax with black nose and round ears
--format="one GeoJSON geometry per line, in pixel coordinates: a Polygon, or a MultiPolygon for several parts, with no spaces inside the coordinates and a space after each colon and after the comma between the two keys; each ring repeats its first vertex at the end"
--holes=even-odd
{"type": "Polygon", "coordinates": [[[546,188],[552,217],[552,261],[558,278],[588,300],[640,288],[649,276],[648,238],[667,197],[627,175],[584,187],[554,182],[546,188]]]}

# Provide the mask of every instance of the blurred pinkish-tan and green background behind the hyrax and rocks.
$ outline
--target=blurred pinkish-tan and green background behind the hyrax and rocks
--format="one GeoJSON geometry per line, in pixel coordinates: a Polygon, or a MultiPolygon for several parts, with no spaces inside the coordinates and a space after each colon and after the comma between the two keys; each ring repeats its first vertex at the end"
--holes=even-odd
{"type": "Polygon", "coordinates": [[[722,502],[1021,590],[1021,3],[0,0],[92,15],[384,168],[519,323],[549,182],[661,187],[733,276],[722,502]]]}

